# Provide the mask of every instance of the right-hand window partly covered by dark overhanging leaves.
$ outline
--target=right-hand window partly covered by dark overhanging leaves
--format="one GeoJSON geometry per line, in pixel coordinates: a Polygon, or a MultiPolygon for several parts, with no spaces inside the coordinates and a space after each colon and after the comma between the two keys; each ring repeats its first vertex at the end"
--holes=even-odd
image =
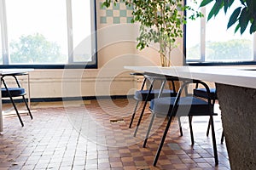
{"type": "MultiPolygon", "coordinates": [[[[192,0],[187,0],[189,6],[198,8],[192,0]]],[[[200,5],[200,2],[197,4],[200,5]]],[[[186,62],[193,64],[253,64],[255,58],[255,35],[245,31],[242,35],[239,31],[234,33],[235,27],[227,30],[230,14],[240,3],[234,3],[227,14],[224,10],[211,20],[207,21],[207,14],[212,9],[213,3],[201,8],[205,17],[198,20],[189,20],[185,32],[185,55],[186,62]]],[[[187,14],[189,16],[189,13],[187,14]]]]}

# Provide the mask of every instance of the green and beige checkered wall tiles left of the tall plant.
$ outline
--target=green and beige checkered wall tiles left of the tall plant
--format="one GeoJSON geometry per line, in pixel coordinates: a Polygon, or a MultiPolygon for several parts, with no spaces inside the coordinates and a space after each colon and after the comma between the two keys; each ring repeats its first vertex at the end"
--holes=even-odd
{"type": "Polygon", "coordinates": [[[100,23],[110,25],[131,23],[132,10],[132,6],[126,6],[123,2],[111,4],[109,8],[102,7],[100,2],[100,23]]]}

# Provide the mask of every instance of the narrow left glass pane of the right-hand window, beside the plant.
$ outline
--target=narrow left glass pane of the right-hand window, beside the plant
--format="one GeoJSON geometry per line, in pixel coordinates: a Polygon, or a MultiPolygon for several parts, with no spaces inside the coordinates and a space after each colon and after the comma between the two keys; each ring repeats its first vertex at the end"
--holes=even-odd
{"type": "MultiPolygon", "coordinates": [[[[193,0],[187,0],[187,4],[192,8],[198,8],[199,4],[193,0]]],[[[187,12],[189,17],[192,13],[187,12]]],[[[200,39],[201,39],[201,20],[187,20],[186,25],[186,59],[201,59],[200,39]]]]}

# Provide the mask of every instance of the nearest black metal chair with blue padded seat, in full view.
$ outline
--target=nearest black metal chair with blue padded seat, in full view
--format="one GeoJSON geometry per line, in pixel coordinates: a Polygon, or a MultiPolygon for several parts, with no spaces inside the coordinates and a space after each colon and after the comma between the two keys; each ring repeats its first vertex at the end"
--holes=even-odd
{"type": "Polygon", "coordinates": [[[150,101],[150,111],[152,112],[151,122],[149,123],[148,132],[146,134],[146,138],[144,140],[143,146],[146,146],[148,136],[151,130],[151,127],[154,122],[155,116],[167,116],[168,122],[166,124],[166,129],[160,141],[159,148],[154,157],[154,166],[156,165],[158,158],[160,156],[160,151],[166,139],[166,134],[171,126],[172,118],[174,116],[189,116],[189,128],[190,128],[190,138],[191,143],[194,144],[194,134],[192,129],[192,116],[210,116],[210,123],[212,127],[212,145],[213,145],[213,154],[215,159],[215,164],[218,164],[218,152],[217,145],[215,139],[214,125],[213,125],[213,105],[211,99],[209,97],[210,89],[208,88],[205,82],[197,81],[197,80],[184,80],[183,85],[178,91],[177,97],[166,97],[166,98],[158,98],[152,99],[150,101]],[[195,97],[193,94],[183,93],[183,90],[186,90],[188,85],[191,83],[199,83],[207,90],[207,101],[205,99],[200,99],[195,97]],[[185,97],[181,97],[181,94],[186,94],[185,97]]]}

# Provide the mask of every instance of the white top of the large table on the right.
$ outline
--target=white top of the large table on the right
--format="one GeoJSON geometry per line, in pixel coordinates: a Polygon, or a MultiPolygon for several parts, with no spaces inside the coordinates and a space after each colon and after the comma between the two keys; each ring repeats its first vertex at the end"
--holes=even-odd
{"type": "Polygon", "coordinates": [[[125,69],[207,82],[218,82],[245,88],[256,88],[256,66],[125,66],[125,69]]]}

